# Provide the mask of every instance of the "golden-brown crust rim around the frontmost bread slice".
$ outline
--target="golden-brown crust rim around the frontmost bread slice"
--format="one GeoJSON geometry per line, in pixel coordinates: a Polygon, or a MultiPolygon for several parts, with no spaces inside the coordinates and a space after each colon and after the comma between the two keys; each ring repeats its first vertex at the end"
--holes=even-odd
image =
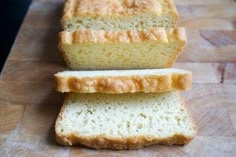
{"type": "MultiPolygon", "coordinates": [[[[182,107],[184,108],[184,100],[180,96],[178,92],[176,92],[177,96],[179,97],[182,107]]],[[[65,101],[63,103],[62,109],[60,114],[58,115],[58,118],[56,120],[56,140],[59,144],[72,146],[75,144],[82,144],[87,147],[95,148],[95,149],[116,149],[116,150],[122,150],[122,149],[138,149],[145,146],[153,145],[153,144],[165,144],[165,145],[183,145],[189,143],[197,133],[197,127],[195,123],[193,122],[194,132],[195,134],[193,136],[186,136],[183,134],[174,134],[167,138],[154,138],[151,136],[134,136],[134,137],[128,137],[128,138],[112,138],[108,137],[106,135],[97,135],[97,136],[91,136],[91,137],[82,137],[79,136],[76,133],[67,134],[64,135],[61,133],[61,131],[58,129],[59,127],[59,121],[63,118],[62,113],[64,112],[65,105],[67,104],[67,101],[69,100],[69,94],[66,95],[65,101]]],[[[191,120],[193,121],[190,114],[188,114],[191,120]]]]}

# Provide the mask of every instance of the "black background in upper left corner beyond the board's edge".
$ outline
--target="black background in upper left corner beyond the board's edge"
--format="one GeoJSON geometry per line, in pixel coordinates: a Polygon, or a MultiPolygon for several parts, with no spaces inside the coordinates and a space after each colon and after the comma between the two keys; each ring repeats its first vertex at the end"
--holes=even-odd
{"type": "Polygon", "coordinates": [[[0,72],[31,0],[5,0],[0,5],[0,72]]]}

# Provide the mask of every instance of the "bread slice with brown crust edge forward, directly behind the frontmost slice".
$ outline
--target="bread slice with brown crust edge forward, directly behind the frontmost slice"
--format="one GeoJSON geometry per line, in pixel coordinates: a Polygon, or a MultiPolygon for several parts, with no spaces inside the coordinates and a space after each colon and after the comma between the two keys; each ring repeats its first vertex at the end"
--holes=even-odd
{"type": "Polygon", "coordinates": [[[54,76],[60,92],[150,93],[188,90],[192,86],[192,72],[172,68],[64,71],[54,76]]]}

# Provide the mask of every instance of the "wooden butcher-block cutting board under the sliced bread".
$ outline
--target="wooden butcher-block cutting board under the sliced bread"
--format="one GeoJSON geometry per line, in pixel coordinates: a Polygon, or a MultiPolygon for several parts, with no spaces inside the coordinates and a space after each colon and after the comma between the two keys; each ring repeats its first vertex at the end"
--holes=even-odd
{"type": "Polygon", "coordinates": [[[66,69],[57,50],[63,1],[35,0],[0,76],[0,156],[236,156],[236,2],[176,0],[188,45],[175,67],[193,71],[183,92],[198,134],[186,146],[132,151],[63,147],[54,123],[63,94],[52,75],[66,69]]]}

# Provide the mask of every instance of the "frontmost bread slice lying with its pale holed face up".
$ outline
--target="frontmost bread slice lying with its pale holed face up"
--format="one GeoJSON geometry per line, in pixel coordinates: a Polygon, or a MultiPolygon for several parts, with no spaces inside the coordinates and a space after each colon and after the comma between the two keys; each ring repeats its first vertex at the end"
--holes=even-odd
{"type": "Polygon", "coordinates": [[[56,120],[62,145],[137,149],[186,144],[196,126],[176,92],[135,94],[68,93],[56,120]]]}

